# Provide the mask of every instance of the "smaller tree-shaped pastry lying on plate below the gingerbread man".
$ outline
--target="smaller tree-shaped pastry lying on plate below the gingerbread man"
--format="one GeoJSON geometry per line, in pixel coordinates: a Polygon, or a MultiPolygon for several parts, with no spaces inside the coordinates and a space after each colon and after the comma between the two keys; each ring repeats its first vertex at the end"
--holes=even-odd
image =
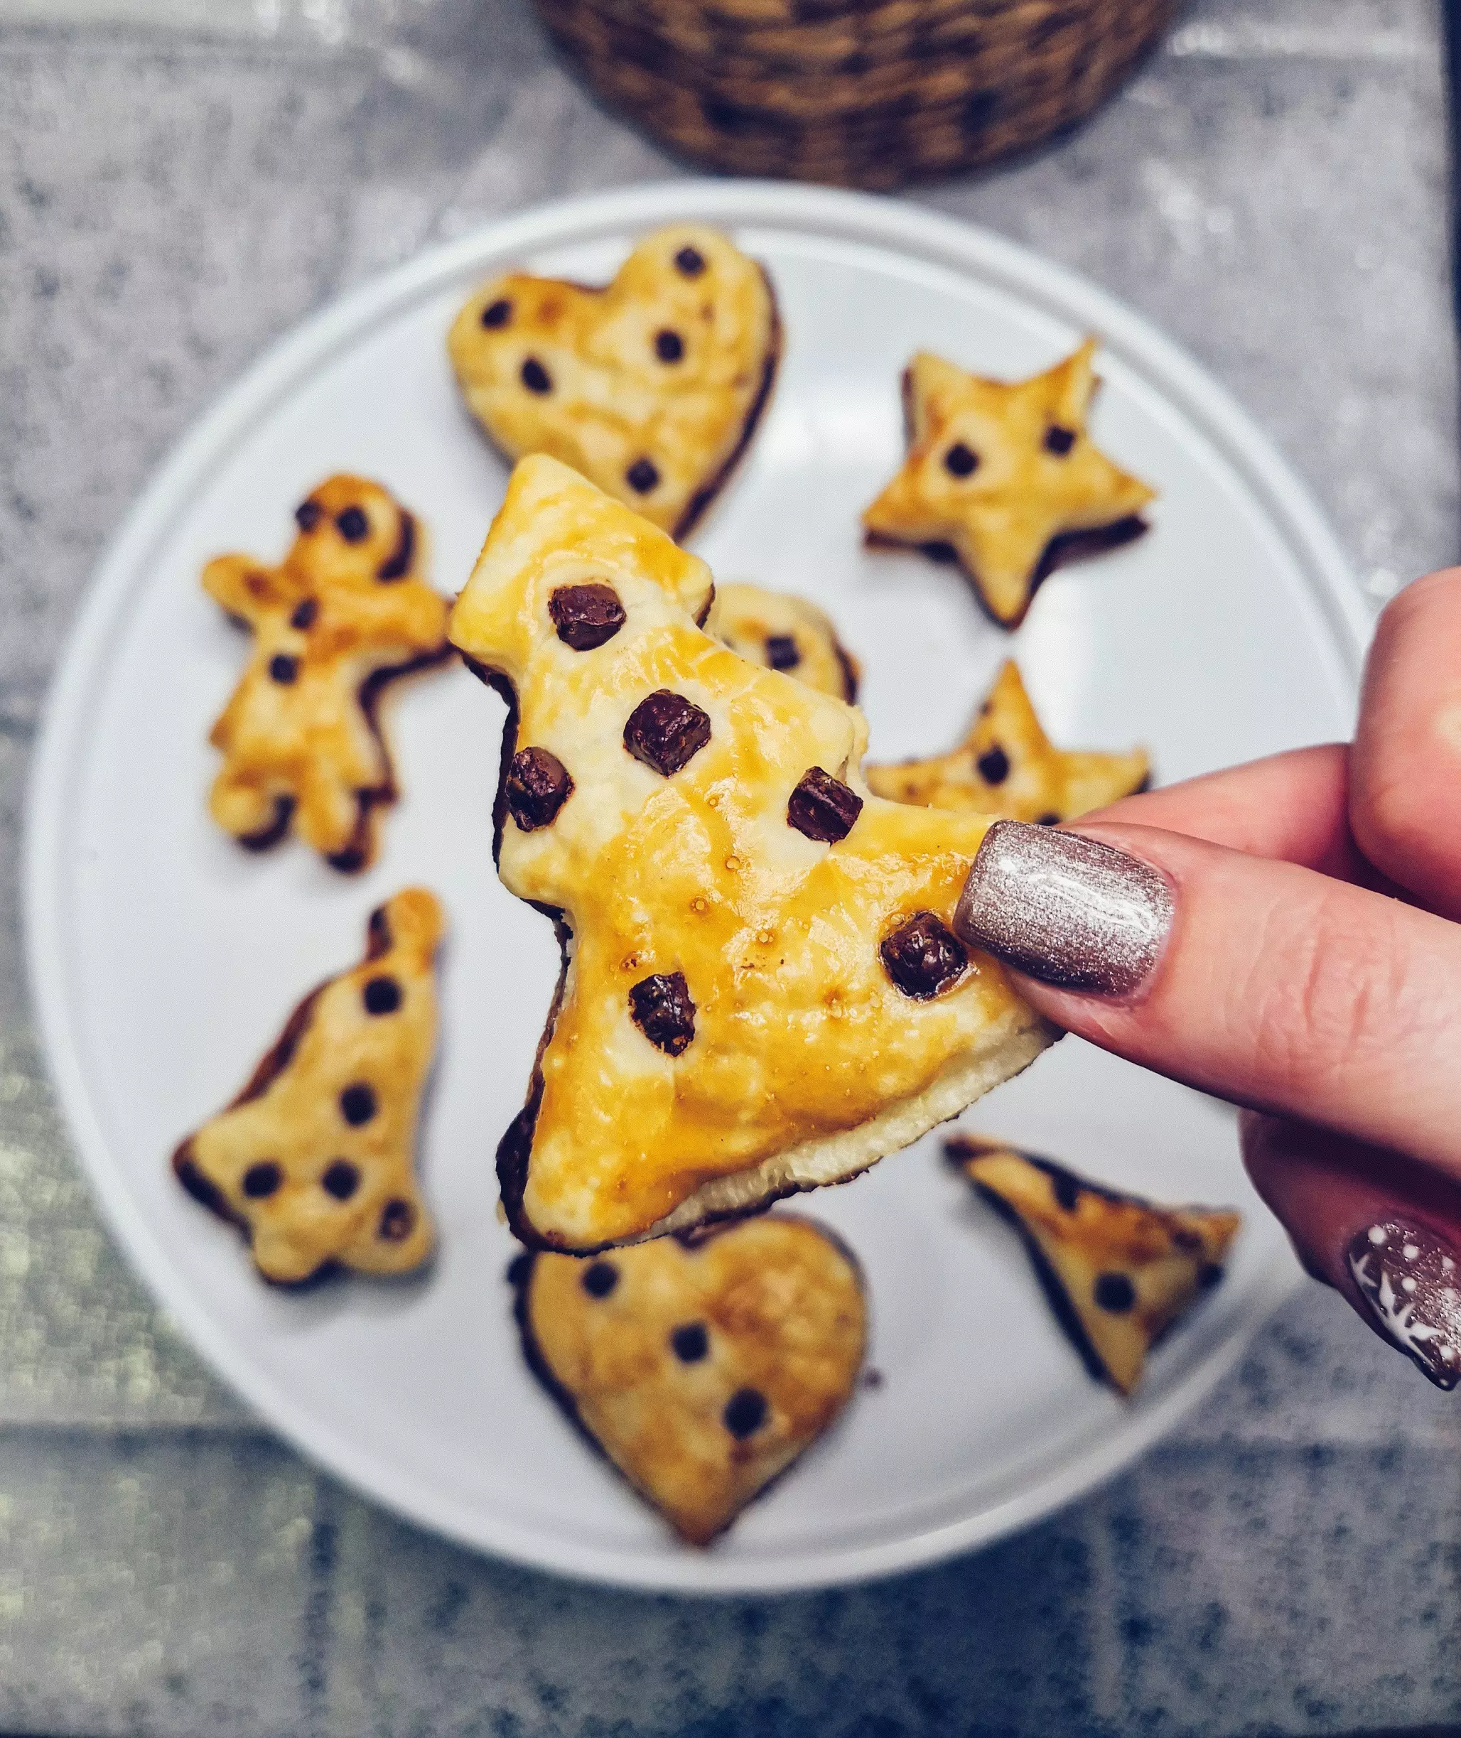
{"type": "Polygon", "coordinates": [[[365,959],[304,998],[243,1091],[172,1156],[276,1284],[335,1264],[405,1274],[431,1253],[413,1154],[441,928],[419,886],[372,912],[365,959]]]}

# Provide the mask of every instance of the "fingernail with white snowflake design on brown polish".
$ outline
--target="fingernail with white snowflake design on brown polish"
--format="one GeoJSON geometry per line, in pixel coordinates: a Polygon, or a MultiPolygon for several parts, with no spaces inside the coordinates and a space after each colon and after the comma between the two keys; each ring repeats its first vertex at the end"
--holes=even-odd
{"type": "Polygon", "coordinates": [[[1386,1335],[1438,1389],[1461,1382],[1458,1255],[1418,1225],[1379,1220],[1350,1244],[1350,1272],[1386,1335]]]}

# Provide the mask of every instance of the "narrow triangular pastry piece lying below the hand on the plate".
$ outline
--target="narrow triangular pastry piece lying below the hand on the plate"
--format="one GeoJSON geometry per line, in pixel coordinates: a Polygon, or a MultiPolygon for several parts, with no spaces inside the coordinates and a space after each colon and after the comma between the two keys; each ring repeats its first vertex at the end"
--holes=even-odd
{"type": "Polygon", "coordinates": [[[1025,1239],[1086,1368],[1122,1394],[1173,1323],[1223,1277],[1237,1213],[1155,1206],[992,1140],[959,1137],[945,1152],[1025,1239]]]}

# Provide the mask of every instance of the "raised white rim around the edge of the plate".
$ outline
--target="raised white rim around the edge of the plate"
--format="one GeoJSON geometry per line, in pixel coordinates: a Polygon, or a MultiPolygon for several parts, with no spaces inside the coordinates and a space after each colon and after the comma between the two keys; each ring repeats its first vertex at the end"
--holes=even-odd
{"type": "Polygon", "coordinates": [[[229,1335],[175,1274],[160,1239],[136,1204],[123,1173],[113,1164],[101,1118],[78,1053],[66,998],[63,899],[66,803],[69,777],[83,754],[85,711],[92,673],[104,666],[108,629],[136,584],[146,558],[170,530],[193,494],[222,466],[235,445],[340,348],[363,339],[377,323],[420,295],[443,289],[469,271],[542,247],[594,240],[660,222],[704,221],[761,224],[870,243],[921,262],[952,268],[994,283],[1023,301],[1074,323],[1094,325],[1107,349],[1140,363],[1143,377],[1213,441],[1265,507],[1306,570],[1322,607],[1334,648],[1348,664],[1353,687],[1372,629],[1371,610],[1353,568],[1324,511],[1266,433],[1180,344],[1145,315],[1108,290],[1021,243],[964,219],[865,193],[773,181],[684,179],[573,195],[526,210],[486,219],[467,233],[429,247],[377,278],[346,292],[269,344],[170,447],[97,561],[76,608],[52,676],[36,746],[30,763],[21,860],[24,954],[31,1005],[57,1104],[82,1159],[92,1197],[132,1272],[174,1317],[210,1370],[269,1429],[311,1463],[339,1477],[405,1519],[473,1550],[526,1568],[601,1585],[645,1592],[749,1595],[783,1594],[884,1578],[975,1550],[1094,1489],[1143,1455],[1171,1430],[1237,1363],[1256,1330],[1298,1283],[1298,1269],[1273,1269],[1256,1288],[1244,1323],[1181,1376],[1171,1390],[1129,1418],[1103,1443],[1074,1453],[1023,1491],[947,1521],[876,1545],[815,1552],[806,1547],[783,1559],[733,1559],[676,1554],[625,1559],[599,1545],[544,1542],[514,1521],[488,1528],[464,1526],[450,1498],[434,1500],[417,1481],[407,1488],[393,1469],[380,1467],[328,1425],[299,1427],[290,1390],[240,1354],[229,1335]],[[547,1545],[547,1549],[544,1549],[547,1545]]]}

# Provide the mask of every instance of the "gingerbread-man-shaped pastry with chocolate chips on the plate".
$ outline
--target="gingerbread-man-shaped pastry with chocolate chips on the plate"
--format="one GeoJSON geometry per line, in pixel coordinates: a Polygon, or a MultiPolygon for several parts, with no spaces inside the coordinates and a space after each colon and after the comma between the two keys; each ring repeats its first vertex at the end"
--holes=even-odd
{"type": "Polygon", "coordinates": [[[248,669],[208,740],[208,808],[240,845],[294,831],[335,869],[375,853],[396,780],[377,709],[386,683],[446,657],[446,600],[420,577],[424,539],[379,483],[332,476],[295,513],[278,567],[226,554],[203,587],[254,634],[248,669]]]}

